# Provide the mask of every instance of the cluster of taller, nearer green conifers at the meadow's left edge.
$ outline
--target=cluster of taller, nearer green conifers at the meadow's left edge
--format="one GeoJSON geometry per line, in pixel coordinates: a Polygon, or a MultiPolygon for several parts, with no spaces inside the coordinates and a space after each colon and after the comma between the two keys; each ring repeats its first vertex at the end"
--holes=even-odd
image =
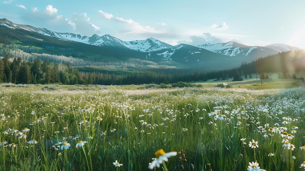
{"type": "MultiPolygon", "coordinates": [[[[20,57],[5,55],[0,60],[0,82],[14,84],[79,84],[79,72],[69,64],[52,64],[40,59],[34,62],[22,61],[20,57]]],[[[82,82],[81,82],[82,83],[82,82]]]]}

